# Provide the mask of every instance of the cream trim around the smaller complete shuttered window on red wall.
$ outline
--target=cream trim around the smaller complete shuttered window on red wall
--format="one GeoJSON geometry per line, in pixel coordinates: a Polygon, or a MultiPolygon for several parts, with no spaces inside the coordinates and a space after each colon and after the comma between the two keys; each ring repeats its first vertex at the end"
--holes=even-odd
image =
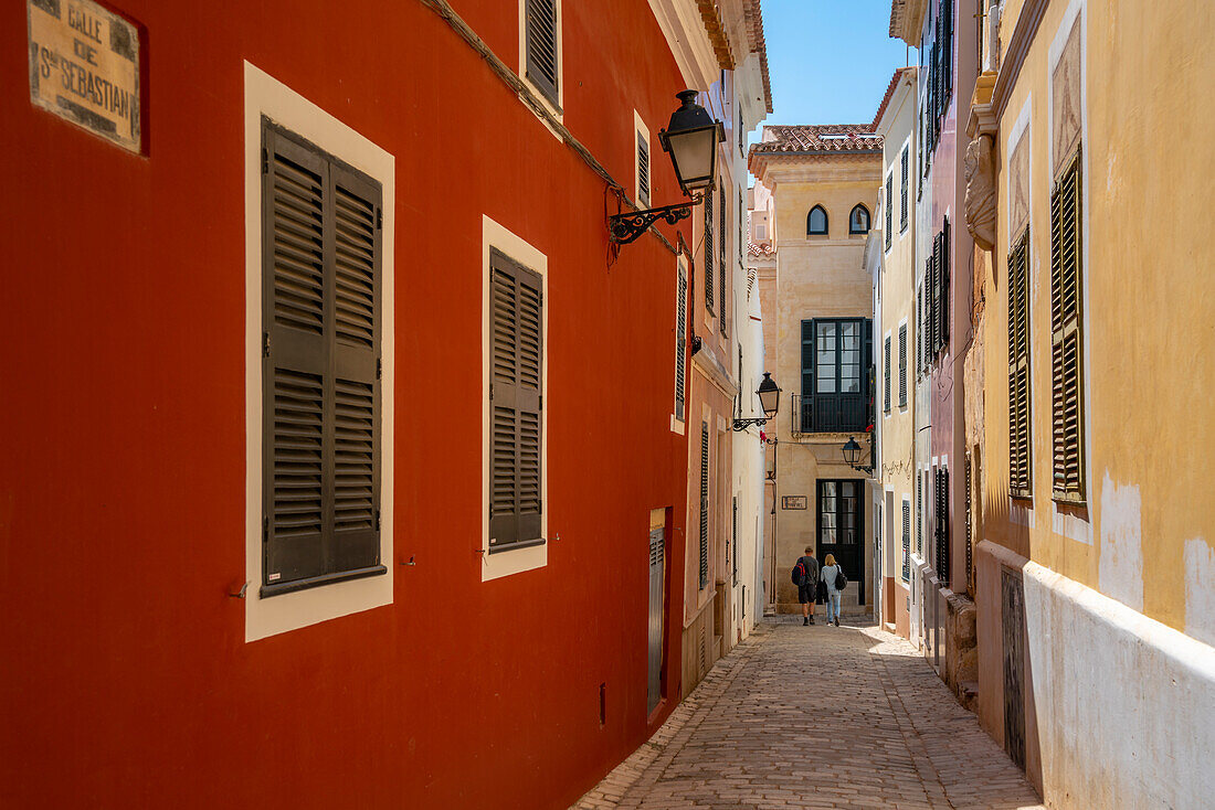
{"type": "Polygon", "coordinates": [[[544,306],[541,345],[544,347],[541,362],[541,390],[549,401],[541,409],[541,478],[539,478],[539,536],[548,538],[548,410],[552,397],[548,390],[548,256],[520,237],[498,225],[488,216],[481,216],[481,582],[509,577],[543,568],[548,565],[548,543],[524,549],[510,549],[490,554],[490,254],[498,249],[543,279],[544,306]]]}

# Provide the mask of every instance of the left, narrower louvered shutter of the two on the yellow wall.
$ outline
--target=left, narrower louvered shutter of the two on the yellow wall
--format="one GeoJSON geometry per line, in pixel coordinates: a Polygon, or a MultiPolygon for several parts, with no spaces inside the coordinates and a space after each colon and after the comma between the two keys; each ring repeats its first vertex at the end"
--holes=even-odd
{"type": "Polygon", "coordinates": [[[1008,254],[1008,491],[1033,493],[1029,424],[1029,228],[1008,254]]]}

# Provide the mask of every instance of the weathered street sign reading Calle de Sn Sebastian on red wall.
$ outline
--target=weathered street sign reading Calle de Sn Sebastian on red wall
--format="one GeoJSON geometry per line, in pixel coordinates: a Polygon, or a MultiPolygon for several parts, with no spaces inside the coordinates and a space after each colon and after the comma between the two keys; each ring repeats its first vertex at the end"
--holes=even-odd
{"type": "Polygon", "coordinates": [[[140,38],[91,0],[27,0],[29,100],[140,152],[140,38]]]}

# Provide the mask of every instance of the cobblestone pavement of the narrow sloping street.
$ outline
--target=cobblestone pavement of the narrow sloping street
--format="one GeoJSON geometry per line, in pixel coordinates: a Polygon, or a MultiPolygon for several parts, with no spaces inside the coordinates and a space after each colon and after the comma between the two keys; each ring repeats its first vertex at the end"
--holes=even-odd
{"type": "Polygon", "coordinates": [[[1040,799],[910,644],[767,619],[573,805],[1007,808],[1040,799]]]}

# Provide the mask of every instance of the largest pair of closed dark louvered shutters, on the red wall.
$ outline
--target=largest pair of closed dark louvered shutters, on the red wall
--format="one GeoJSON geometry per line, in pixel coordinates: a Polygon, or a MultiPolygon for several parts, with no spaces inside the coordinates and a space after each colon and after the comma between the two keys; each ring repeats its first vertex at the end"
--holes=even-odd
{"type": "Polygon", "coordinates": [[[260,595],[380,560],[382,187],[265,118],[260,595]]]}

